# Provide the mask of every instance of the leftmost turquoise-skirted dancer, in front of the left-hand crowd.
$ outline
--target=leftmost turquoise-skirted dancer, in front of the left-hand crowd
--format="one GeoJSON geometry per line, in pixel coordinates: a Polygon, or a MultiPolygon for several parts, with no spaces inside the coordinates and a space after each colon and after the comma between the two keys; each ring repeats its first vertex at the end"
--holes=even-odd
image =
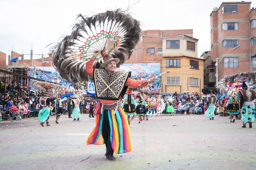
{"type": "Polygon", "coordinates": [[[46,95],[40,98],[40,105],[42,106],[42,110],[38,113],[38,120],[41,122],[40,125],[44,126],[44,122],[46,122],[47,126],[49,125],[49,115],[50,115],[50,108],[51,102],[53,102],[56,98],[49,98],[46,95]]]}

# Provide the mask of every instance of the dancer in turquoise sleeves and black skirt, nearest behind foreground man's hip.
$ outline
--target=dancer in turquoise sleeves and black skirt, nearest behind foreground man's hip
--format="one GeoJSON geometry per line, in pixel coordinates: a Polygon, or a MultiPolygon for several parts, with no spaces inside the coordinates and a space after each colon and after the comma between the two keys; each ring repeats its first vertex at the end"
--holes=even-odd
{"type": "Polygon", "coordinates": [[[128,119],[128,124],[130,125],[131,121],[135,118],[136,116],[136,110],[135,110],[135,100],[134,97],[131,96],[132,95],[132,91],[130,88],[128,88],[128,90],[126,91],[126,93],[128,94],[125,99],[124,102],[122,103],[122,108],[125,111],[125,114],[127,116],[128,119]],[[130,116],[132,116],[131,121],[130,121],[130,116]]]}

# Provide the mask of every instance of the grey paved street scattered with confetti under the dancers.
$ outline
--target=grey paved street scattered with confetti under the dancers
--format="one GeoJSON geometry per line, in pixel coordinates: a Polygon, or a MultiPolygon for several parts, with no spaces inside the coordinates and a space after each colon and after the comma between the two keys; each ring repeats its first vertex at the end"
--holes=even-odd
{"type": "Polygon", "coordinates": [[[132,152],[108,161],[105,145],[86,145],[95,118],[67,115],[41,127],[36,118],[0,122],[1,170],[256,170],[256,122],[174,115],[131,123],[132,152]],[[8,127],[6,126],[8,125],[8,127]]]}

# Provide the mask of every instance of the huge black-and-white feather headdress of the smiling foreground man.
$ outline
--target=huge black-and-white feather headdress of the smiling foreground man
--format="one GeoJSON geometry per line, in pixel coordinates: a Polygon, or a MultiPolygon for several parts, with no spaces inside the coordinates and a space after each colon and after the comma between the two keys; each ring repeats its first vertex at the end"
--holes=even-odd
{"type": "Polygon", "coordinates": [[[79,14],[77,19],[72,33],[53,48],[52,62],[61,78],[68,82],[88,81],[85,64],[94,51],[101,52],[96,57],[94,68],[101,68],[105,52],[119,59],[119,67],[131,57],[142,33],[140,22],[120,9],[91,17],[79,14]]]}

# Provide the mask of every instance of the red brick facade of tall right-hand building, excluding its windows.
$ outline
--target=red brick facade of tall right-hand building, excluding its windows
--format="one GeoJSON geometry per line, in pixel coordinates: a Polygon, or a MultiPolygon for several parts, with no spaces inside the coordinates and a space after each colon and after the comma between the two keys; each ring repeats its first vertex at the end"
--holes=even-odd
{"type": "Polygon", "coordinates": [[[223,13],[220,8],[218,12],[212,13],[211,29],[211,59],[224,56],[232,48],[223,48],[222,40],[238,40],[240,48],[231,50],[226,57],[239,57],[239,68],[223,68],[224,59],[219,63],[219,77],[250,71],[250,40],[249,40],[249,3],[224,3],[224,5],[237,5],[237,13],[223,13]],[[225,22],[238,22],[238,30],[222,30],[221,24],[225,22]],[[216,28],[217,27],[217,28],[216,28]]]}

